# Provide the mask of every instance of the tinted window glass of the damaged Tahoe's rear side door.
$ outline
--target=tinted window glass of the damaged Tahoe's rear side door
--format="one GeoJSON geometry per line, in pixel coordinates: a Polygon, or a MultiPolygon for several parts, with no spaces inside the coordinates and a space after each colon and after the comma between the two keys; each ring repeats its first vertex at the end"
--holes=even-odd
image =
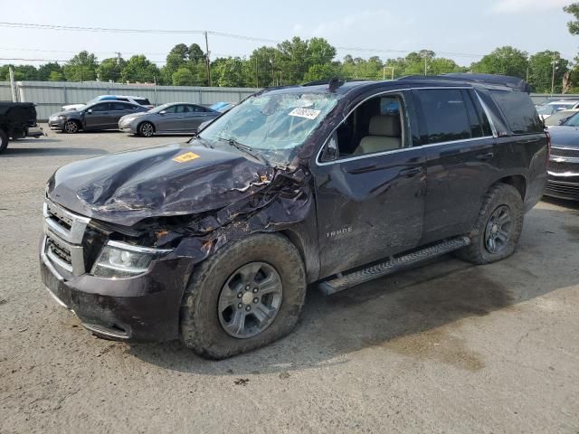
{"type": "Polygon", "coordinates": [[[426,143],[470,138],[470,120],[460,90],[417,90],[426,123],[426,143]]]}

